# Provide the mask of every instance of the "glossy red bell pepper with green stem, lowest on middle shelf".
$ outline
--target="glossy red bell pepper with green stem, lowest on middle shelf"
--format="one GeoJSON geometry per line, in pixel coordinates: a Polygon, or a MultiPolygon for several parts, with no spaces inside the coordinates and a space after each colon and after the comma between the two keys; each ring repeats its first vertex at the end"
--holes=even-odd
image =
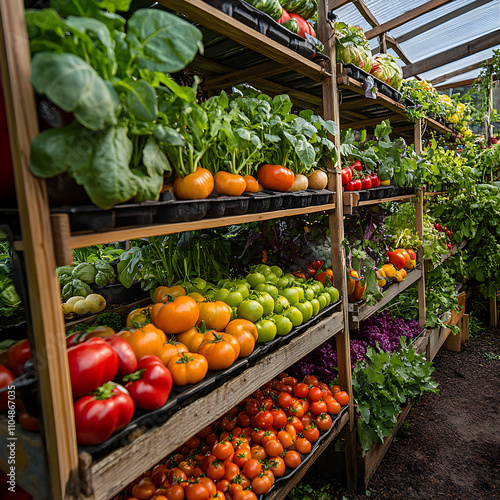
{"type": "Polygon", "coordinates": [[[104,384],[75,402],[76,438],[79,444],[99,444],[132,419],[135,406],[130,394],[117,384],[104,384]]]}

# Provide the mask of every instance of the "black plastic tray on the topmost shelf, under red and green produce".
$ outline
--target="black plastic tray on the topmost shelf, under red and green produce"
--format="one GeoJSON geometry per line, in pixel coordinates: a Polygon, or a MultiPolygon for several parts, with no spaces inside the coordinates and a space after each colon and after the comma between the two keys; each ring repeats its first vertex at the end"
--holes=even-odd
{"type": "Polygon", "coordinates": [[[244,0],[205,0],[216,9],[307,59],[316,55],[314,38],[302,38],[244,0]]]}

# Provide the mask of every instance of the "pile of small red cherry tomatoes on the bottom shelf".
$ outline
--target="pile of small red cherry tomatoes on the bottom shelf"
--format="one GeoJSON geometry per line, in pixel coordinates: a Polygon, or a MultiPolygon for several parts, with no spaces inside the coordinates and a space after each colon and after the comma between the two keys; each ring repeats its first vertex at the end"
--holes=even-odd
{"type": "Polygon", "coordinates": [[[256,500],[307,456],[349,396],[314,375],[278,375],[115,500],[256,500]]]}

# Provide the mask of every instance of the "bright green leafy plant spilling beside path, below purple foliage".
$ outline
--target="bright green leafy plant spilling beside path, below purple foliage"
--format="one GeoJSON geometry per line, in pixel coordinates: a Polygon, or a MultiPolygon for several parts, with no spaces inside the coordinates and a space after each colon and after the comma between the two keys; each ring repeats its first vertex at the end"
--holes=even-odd
{"type": "Polygon", "coordinates": [[[438,392],[438,384],[431,379],[432,363],[407,346],[405,337],[400,344],[400,351],[393,354],[368,347],[366,360],[358,361],[352,374],[363,456],[391,434],[406,402],[418,400],[425,392],[438,392]]]}

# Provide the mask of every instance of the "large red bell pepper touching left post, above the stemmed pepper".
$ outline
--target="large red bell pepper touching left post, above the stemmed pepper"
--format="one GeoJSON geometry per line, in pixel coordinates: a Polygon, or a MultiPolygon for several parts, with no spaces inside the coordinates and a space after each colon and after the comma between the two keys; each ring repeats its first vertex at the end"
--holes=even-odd
{"type": "Polygon", "coordinates": [[[118,356],[100,338],[92,338],[68,349],[73,397],[89,394],[112,380],[118,372],[118,356]]]}

